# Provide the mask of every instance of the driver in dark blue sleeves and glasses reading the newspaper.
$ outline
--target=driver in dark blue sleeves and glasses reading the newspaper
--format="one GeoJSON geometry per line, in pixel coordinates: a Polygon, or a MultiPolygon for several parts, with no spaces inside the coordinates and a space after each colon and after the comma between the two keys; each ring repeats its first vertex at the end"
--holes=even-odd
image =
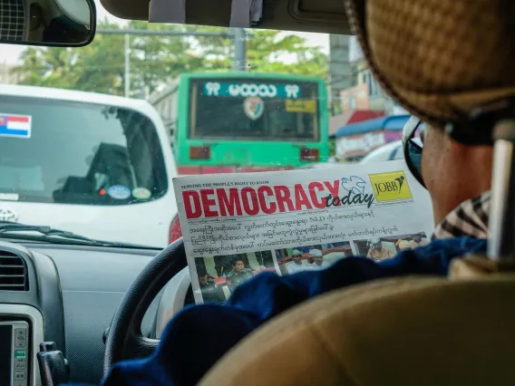
{"type": "Polygon", "coordinates": [[[453,258],[485,252],[492,148],[458,143],[442,128],[423,127],[414,118],[404,127],[403,135],[406,162],[432,199],[436,227],[427,246],[405,249],[379,261],[364,256],[346,257],[326,269],[284,276],[266,272],[250,278],[250,273],[242,274],[243,262],[238,260],[233,280],[242,275],[245,280],[241,280],[244,283],[234,289],[226,304],[186,307],[170,320],[153,356],[116,363],[102,383],[194,385],[241,339],[296,304],[336,288],[371,280],[447,275],[453,258]],[[413,142],[414,132],[421,128],[423,142],[413,142]]]}

